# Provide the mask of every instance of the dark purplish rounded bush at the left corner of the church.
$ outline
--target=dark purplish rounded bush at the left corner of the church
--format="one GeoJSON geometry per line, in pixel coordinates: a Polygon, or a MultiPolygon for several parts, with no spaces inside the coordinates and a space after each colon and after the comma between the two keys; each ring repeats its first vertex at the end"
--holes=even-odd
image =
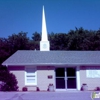
{"type": "Polygon", "coordinates": [[[1,91],[17,91],[17,79],[13,73],[10,73],[6,67],[0,66],[0,81],[4,84],[1,91]]]}

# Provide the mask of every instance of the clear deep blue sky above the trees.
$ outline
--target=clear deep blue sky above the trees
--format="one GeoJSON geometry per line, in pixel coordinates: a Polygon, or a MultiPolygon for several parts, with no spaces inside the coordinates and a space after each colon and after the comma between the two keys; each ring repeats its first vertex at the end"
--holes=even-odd
{"type": "Polygon", "coordinates": [[[0,0],[0,37],[41,33],[43,5],[48,33],[100,28],[100,0],[0,0]]]}

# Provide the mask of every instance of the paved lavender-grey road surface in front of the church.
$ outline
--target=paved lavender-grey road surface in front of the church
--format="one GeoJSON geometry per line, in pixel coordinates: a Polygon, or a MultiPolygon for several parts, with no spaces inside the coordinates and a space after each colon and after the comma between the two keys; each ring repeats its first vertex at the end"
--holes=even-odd
{"type": "Polygon", "coordinates": [[[0,100],[92,100],[92,92],[0,92],[0,100]]]}

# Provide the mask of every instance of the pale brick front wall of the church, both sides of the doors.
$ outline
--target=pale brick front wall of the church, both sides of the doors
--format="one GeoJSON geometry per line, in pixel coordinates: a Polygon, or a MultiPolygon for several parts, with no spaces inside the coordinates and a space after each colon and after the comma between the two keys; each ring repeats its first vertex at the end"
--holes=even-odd
{"type": "MultiPolygon", "coordinates": [[[[87,77],[87,68],[86,66],[80,67],[80,86],[86,83],[89,90],[94,90],[96,87],[100,87],[100,77],[87,77]]],[[[90,66],[90,68],[91,70],[98,69],[98,71],[100,71],[100,66],[90,66]]],[[[53,84],[55,87],[55,68],[53,66],[37,66],[37,85],[31,86],[25,85],[24,66],[8,66],[8,69],[16,76],[20,91],[22,91],[24,86],[26,86],[29,91],[36,91],[37,87],[40,91],[46,91],[49,84],[53,84]]]]}

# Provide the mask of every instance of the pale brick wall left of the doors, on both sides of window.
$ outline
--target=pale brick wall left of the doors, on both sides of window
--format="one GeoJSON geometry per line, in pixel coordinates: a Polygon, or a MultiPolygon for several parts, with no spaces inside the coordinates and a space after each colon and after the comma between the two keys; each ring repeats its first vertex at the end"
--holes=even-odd
{"type": "Polygon", "coordinates": [[[8,69],[16,76],[19,91],[22,91],[23,87],[27,87],[28,91],[36,91],[37,87],[40,91],[47,91],[49,84],[55,85],[55,73],[52,66],[37,66],[37,85],[25,85],[24,66],[9,66],[8,69]]]}

